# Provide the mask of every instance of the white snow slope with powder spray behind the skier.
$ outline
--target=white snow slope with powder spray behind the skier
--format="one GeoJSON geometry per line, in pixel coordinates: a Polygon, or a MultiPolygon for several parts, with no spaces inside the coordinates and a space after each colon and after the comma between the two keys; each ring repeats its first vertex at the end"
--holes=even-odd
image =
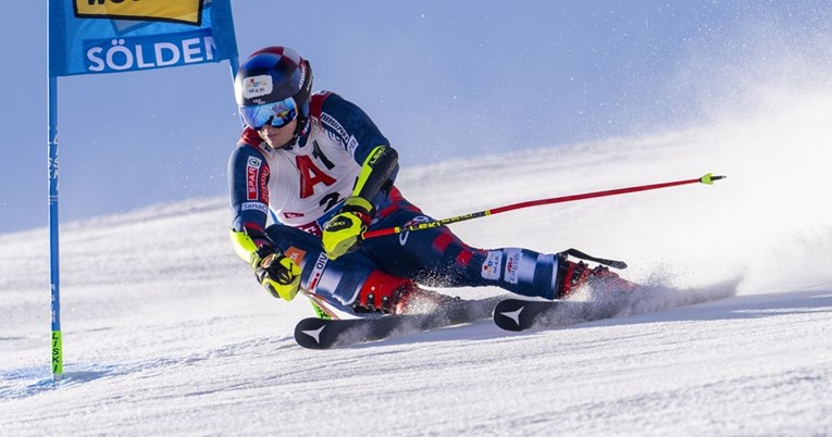
{"type": "Polygon", "coordinates": [[[260,289],[224,198],[193,199],[62,226],[52,383],[47,230],[0,235],[0,434],[830,435],[832,98],[770,97],[699,128],[401,171],[436,217],[727,174],[454,225],[688,289],[613,320],[306,350],[293,329],[309,304],[260,289]]]}

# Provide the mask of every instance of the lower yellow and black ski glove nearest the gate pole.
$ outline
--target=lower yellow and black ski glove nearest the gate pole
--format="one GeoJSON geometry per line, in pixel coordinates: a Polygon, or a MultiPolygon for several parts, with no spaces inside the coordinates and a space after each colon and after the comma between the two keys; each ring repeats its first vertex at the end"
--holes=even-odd
{"type": "Polygon", "coordinates": [[[297,296],[300,266],[270,246],[263,246],[251,254],[251,269],[257,280],[275,298],[291,300],[297,296]]]}

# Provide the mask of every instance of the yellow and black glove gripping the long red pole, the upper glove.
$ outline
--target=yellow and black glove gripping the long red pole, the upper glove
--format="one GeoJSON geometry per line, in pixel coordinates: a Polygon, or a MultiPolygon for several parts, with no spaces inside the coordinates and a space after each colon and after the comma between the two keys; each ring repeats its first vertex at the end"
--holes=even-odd
{"type": "Polygon", "coordinates": [[[370,224],[373,205],[367,199],[353,196],[344,202],[338,214],[324,225],[324,251],[331,260],[353,250],[361,241],[361,234],[370,224]]]}

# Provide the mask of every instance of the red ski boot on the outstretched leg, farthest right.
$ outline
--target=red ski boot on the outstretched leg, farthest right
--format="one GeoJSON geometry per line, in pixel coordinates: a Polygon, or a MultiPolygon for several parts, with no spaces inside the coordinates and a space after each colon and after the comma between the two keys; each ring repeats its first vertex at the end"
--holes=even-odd
{"type": "Polygon", "coordinates": [[[605,265],[589,269],[589,265],[583,261],[575,263],[569,261],[566,255],[558,254],[558,279],[555,298],[566,299],[586,285],[592,287],[596,294],[628,292],[637,287],[637,285],[610,272],[605,265]]]}

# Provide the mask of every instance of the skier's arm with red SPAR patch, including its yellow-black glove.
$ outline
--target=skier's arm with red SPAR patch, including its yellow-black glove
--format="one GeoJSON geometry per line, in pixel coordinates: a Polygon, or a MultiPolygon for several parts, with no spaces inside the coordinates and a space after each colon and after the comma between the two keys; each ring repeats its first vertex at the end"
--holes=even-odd
{"type": "Polygon", "coordinates": [[[228,160],[228,185],[234,221],[234,251],[254,271],[272,296],[291,300],[298,294],[300,267],[286,258],[265,234],[269,211],[269,164],[260,151],[239,145],[228,160]]]}

